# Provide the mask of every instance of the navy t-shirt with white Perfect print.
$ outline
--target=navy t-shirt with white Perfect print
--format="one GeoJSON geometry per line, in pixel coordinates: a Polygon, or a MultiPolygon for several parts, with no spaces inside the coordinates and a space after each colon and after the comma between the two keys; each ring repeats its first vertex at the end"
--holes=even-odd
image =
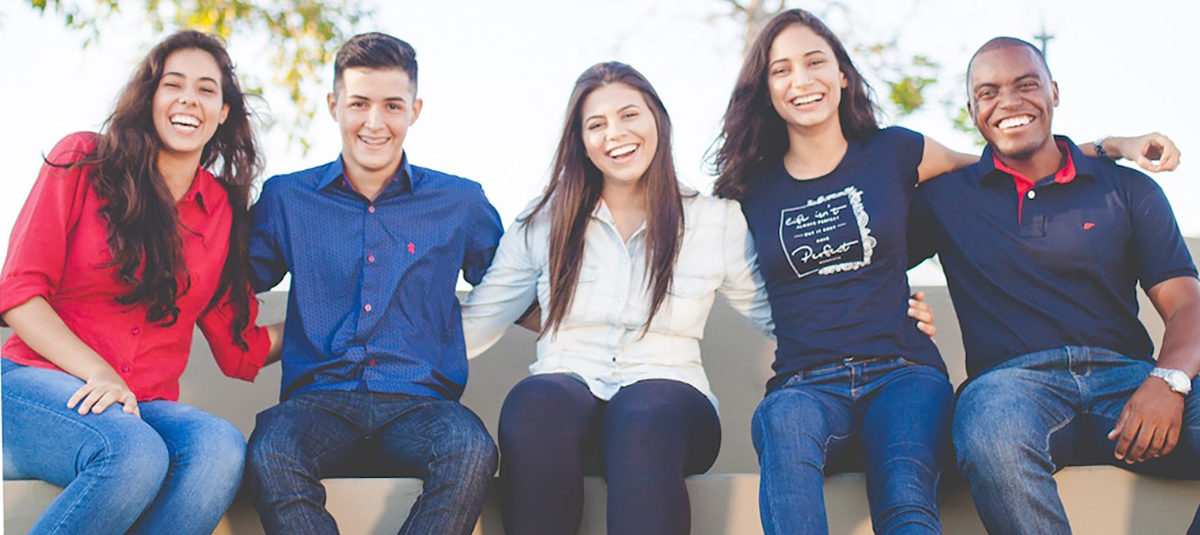
{"type": "Polygon", "coordinates": [[[850,142],[828,175],[796,180],[782,158],[750,181],[750,224],[775,320],[772,390],[805,368],[854,357],[904,357],[944,372],[908,317],[908,202],[924,138],[899,127],[850,142]]]}

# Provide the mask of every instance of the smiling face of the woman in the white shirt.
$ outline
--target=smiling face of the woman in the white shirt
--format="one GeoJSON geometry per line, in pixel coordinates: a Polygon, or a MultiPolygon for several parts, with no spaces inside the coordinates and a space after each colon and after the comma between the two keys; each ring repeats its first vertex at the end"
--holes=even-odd
{"type": "Polygon", "coordinates": [[[635,184],[650,167],[659,148],[658,122],[641,91],[607,84],[583,100],[583,146],[605,184],[635,184]]]}

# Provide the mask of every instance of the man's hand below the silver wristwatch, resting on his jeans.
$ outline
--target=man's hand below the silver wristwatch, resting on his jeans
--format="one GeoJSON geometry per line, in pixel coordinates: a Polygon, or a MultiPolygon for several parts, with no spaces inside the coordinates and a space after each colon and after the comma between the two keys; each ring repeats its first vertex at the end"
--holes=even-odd
{"type": "Polygon", "coordinates": [[[1109,440],[1117,440],[1112,456],[1129,464],[1162,457],[1178,444],[1182,427],[1183,396],[1172,392],[1166,381],[1148,377],[1109,432],[1109,440]]]}

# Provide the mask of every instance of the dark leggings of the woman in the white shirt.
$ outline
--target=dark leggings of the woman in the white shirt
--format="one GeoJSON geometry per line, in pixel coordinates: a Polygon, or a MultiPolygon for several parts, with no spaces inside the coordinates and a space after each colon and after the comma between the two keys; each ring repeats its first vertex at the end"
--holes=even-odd
{"type": "Polygon", "coordinates": [[[688,534],[684,476],[720,446],[716,410],[686,383],[643,380],[605,402],[571,375],[528,377],[500,410],[504,531],[577,533],[583,475],[602,474],[610,534],[688,534]]]}

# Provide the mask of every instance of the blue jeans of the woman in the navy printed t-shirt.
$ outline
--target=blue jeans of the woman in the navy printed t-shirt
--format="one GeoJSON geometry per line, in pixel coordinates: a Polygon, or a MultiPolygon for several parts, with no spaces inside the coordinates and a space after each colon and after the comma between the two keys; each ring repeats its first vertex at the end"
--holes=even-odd
{"type": "Polygon", "coordinates": [[[751,421],[767,534],[824,534],[827,473],[858,457],[875,533],[941,533],[937,482],[950,383],[904,359],[846,359],[797,373],[751,421]]]}

